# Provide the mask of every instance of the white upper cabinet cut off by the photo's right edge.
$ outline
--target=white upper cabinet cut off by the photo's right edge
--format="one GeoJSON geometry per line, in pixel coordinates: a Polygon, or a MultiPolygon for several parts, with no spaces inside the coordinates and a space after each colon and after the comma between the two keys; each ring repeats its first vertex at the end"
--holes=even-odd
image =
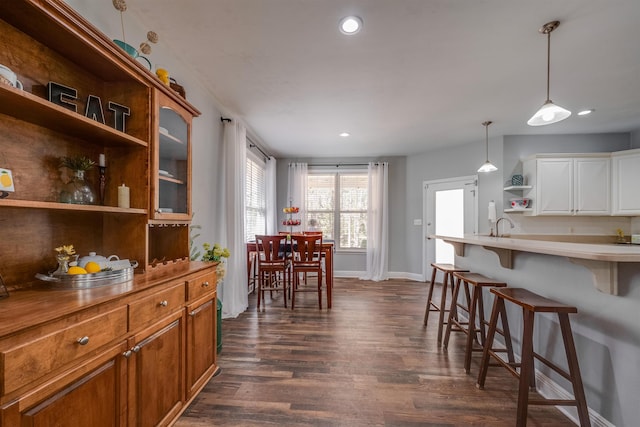
{"type": "Polygon", "coordinates": [[[640,149],[611,153],[613,215],[640,215],[640,149]]]}

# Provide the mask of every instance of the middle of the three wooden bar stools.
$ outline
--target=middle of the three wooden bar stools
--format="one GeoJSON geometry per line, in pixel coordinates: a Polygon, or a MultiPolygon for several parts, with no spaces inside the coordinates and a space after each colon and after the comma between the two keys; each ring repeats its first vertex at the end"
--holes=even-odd
{"type": "MultiPolygon", "coordinates": [[[[471,370],[471,354],[474,351],[482,351],[482,346],[485,343],[486,329],[488,322],[484,320],[484,303],[482,299],[482,289],[486,287],[506,287],[507,284],[494,279],[490,279],[482,274],[468,273],[468,272],[456,272],[453,273],[453,277],[456,279],[455,287],[453,288],[453,301],[451,302],[451,310],[449,311],[449,322],[447,323],[447,332],[444,335],[444,342],[442,347],[446,350],[449,345],[449,336],[451,335],[452,325],[456,325],[455,331],[464,332],[467,334],[467,343],[464,352],[464,371],[469,373],[471,370]],[[469,295],[469,286],[473,286],[473,293],[469,295]],[[460,295],[460,288],[464,288],[467,305],[462,305],[458,302],[458,296],[460,295]],[[466,311],[469,315],[467,322],[461,322],[457,316],[458,308],[466,311]],[[478,318],[478,325],[476,327],[476,317],[478,318]],[[474,348],[473,343],[478,342],[477,334],[480,334],[480,347],[474,348]]],[[[504,324],[503,324],[504,327],[504,324]]],[[[508,330],[508,326],[506,326],[508,330]]],[[[506,333],[506,331],[505,331],[506,333]]],[[[513,359],[513,351],[511,346],[508,347],[509,357],[513,359]]]]}

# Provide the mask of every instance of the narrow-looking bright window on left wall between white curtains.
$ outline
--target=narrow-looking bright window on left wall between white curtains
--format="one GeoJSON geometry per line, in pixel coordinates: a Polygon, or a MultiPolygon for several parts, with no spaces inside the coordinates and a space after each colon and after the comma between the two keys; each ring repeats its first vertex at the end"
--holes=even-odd
{"type": "Polygon", "coordinates": [[[245,188],[245,238],[253,241],[256,234],[265,234],[266,203],[266,164],[252,153],[247,153],[247,176],[245,188]]]}

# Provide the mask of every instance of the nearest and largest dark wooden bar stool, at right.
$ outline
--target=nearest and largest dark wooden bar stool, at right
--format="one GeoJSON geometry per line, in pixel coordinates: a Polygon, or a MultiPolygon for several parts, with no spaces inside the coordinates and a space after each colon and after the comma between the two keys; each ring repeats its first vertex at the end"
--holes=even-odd
{"type": "Polygon", "coordinates": [[[484,388],[487,370],[489,368],[489,356],[491,356],[496,359],[499,365],[504,366],[516,378],[519,378],[518,411],[516,418],[517,426],[525,426],[527,424],[528,405],[576,406],[578,409],[580,425],[583,427],[590,426],[589,409],[587,407],[582,378],[580,376],[578,357],[573,342],[573,335],[571,333],[571,324],[569,323],[569,313],[577,313],[578,309],[576,307],[571,307],[542,297],[528,291],[527,289],[494,288],[491,289],[491,292],[495,294],[495,300],[491,311],[491,319],[489,320],[487,339],[482,352],[482,362],[480,365],[480,373],[478,374],[478,388],[484,388]],[[500,317],[502,317],[503,325],[507,322],[504,305],[505,300],[522,307],[523,332],[521,362],[519,364],[502,360],[491,348],[493,346],[493,338],[496,332],[498,316],[500,315],[500,317]],[[560,330],[562,331],[562,341],[564,342],[564,349],[569,365],[568,373],[533,350],[533,323],[536,313],[558,314],[560,330]],[[536,387],[535,366],[533,364],[534,357],[571,382],[575,397],[574,400],[544,398],[529,399],[529,389],[535,390],[536,387]],[[518,367],[520,368],[519,370],[517,370],[518,367]]]}

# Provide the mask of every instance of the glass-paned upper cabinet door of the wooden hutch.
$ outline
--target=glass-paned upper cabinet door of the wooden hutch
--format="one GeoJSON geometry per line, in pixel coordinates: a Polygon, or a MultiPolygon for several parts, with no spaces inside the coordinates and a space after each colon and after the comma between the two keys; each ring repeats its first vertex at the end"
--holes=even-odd
{"type": "Polygon", "coordinates": [[[191,122],[182,107],[157,93],[151,218],[191,220],[191,122]]]}

